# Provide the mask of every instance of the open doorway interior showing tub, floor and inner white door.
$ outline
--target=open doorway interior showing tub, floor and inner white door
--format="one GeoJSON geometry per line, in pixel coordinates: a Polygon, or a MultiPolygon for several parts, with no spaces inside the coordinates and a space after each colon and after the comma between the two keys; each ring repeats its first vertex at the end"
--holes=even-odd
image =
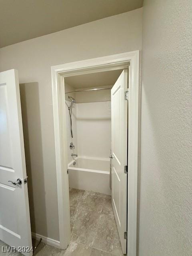
{"type": "Polygon", "coordinates": [[[128,69],[66,77],[64,88],[71,241],[125,254],[128,69]]]}

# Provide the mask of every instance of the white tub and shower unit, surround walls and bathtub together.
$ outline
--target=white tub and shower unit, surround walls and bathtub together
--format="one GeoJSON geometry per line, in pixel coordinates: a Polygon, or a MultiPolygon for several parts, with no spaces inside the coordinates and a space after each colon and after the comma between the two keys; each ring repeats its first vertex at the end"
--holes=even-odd
{"type": "Polygon", "coordinates": [[[74,150],[68,148],[69,186],[111,194],[109,185],[110,102],[75,103],[72,110],[73,138],[70,134],[68,109],[66,110],[66,124],[68,145],[71,141],[75,145],[74,150]],[[82,167],[72,165],[74,158],[71,153],[78,154],[77,162],[84,159],[82,167]],[[106,163],[108,163],[107,168],[106,163]],[[89,168],[89,166],[92,167],[89,168]]]}

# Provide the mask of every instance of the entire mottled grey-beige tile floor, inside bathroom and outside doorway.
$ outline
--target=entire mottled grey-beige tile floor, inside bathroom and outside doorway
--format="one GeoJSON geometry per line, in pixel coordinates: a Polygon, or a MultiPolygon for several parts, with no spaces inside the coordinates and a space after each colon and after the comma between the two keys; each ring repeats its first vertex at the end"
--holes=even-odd
{"type": "MultiPolygon", "coordinates": [[[[66,250],[41,243],[35,256],[121,256],[119,236],[111,197],[105,194],[70,188],[71,242],[66,250]]],[[[33,240],[33,244],[37,241],[33,240]]],[[[2,252],[0,256],[22,254],[2,252]]]]}

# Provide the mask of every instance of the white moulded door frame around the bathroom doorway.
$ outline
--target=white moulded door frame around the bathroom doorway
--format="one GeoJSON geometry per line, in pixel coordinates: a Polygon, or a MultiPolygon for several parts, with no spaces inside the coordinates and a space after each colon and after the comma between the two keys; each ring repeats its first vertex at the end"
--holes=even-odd
{"type": "MultiPolygon", "coordinates": [[[[70,206],[67,161],[67,133],[64,77],[126,68],[130,64],[128,100],[128,239],[127,252],[136,256],[137,184],[138,184],[138,117],[139,117],[139,50],[51,67],[54,141],[58,194],[60,248],[70,242],[70,206]]],[[[126,229],[125,229],[126,231],[126,229]]]]}

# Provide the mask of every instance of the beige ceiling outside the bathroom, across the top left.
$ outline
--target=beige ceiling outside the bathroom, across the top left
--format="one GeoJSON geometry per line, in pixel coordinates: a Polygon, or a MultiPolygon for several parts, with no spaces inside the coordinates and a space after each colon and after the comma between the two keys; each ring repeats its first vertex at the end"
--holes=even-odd
{"type": "Polygon", "coordinates": [[[143,0],[0,0],[0,48],[142,7],[143,0]]]}

